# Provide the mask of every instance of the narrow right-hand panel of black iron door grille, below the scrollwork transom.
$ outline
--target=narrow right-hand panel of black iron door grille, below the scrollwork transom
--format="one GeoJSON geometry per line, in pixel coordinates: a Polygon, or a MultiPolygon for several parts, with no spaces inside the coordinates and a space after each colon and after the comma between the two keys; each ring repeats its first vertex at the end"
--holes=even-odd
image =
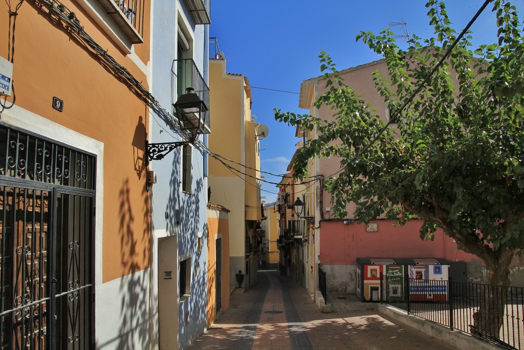
{"type": "Polygon", "coordinates": [[[57,194],[53,338],[59,349],[90,349],[93,310],[93,198],[57,194]],[[56,280],[56,282],[55,282],[56,280]]]}

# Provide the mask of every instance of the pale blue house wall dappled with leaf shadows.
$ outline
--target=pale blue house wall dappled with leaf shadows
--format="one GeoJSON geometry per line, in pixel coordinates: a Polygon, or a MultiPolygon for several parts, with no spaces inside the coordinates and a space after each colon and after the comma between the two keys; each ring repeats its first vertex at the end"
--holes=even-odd
{"type": "MultiPolygon", "coordinates": [[[[191,17],[184,15],[185,4],[181,1],[155,1],[152,18],[152,83],[151,92],[159,101],[162,108],[172,114],[172,103],[176,87],[176,76],[173,60],[177,59],[177,25],[180,23],[190,34],[193,45],[193,60],[202,76],[206,66],[204,47],[207,44],[207,33],[201,25],[195,26],[191,17]]],[[[176,124],[169,122],[165,115],[152,111],[149,121],[149,142],[176,142],[183,141],[176,124]]],[[[200,137],[202,139],[202,136],[200,137]]],[[[178,148],[159,161],[152,161],[150,168],[156,172],[157,183],[152,187],[152,228],[154,235],[154,249],[157,249],[158,238],[163,235],[178,235],[177,256],[191,256],[192,280],[191,296],[180,304],[178,310],[179,346],[183,348],[203,333],[206,324],[206,271],[207,250],[196,251],[197,235],[202,233],[202,242],[206,242],[206,203],[208,184],[204,177],[204,154],[199,147],[193,147],[192,155],[192,193],[181,191],[181,148],[178,148]],[[181,221],[177,222],[177,211],[181,221]],[[162,234],[161,232],[167,232],[162,234]],[[197,268],[199,267],[199,268],[197,268]],[[194,274],[194,271],[198,273],[194,274]],[[189,320],[189,322],[187,322],[189,320]]],[[[156,256],[157,251],[154,251],[156,256]]],[[[157,274],[157,258],[154,258],[153,275],[157,274]]],[[[154,289],[158,282],[155,279],[154,289]]],[[[155,295],[154,301],[158,295],[155,295]]],[[[178,296],[177,296],[178,298],[178,296]]],[[[154,306],[155,309],[158,307],[154,306]]],[[[155,316],[155,322],[158,319],[155,316]]],[[[156,326],[156,328],[158,325],[156,326]]],[[[160,334],[160,337],[162,335],[160,334]]],[[[173,348],[176,348],[173,345],[173,348]]]]}

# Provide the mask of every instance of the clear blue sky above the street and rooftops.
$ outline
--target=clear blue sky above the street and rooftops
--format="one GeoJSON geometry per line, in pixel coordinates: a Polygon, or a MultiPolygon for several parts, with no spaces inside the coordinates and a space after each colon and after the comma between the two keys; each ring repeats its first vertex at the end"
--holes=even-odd
{"type": "MultiPolygon", "coordinates": [[[[452,26],[461,31],[483,0],[445,1],[452,26]]],[[[524,19],[524,0],[511,2],[524,19]]],[[[252,86],[252,114],[266,124],[269,136],[261,140],[263,171],[283,174],[299,141],[294,129],[275,121],[273,109],[307,113],[298,107],[298,94],[253,87],[300,91],[303,80],[321,75],[318,56],[325,51],[339,70],[379,59],[355,37],[360,30],[377,33],[389,23],[407,23],[409,34],[433,35],[424,0],[214,0],[210,36],[216,37],[227,59],[226,70],[246,76],[252,86]]],[[[493,6],[488,5],[473,24],[473,45],[496,41],[493,6]]],[[[391,27],[402,34],[401,27],[391,27]]],[[[399,39],[400,42],[401,39],[399,39]]],[[[210,46],[213,51],[214,47],[210,46]]],[[[265,179],[280,178],[265,174],[265,179]]],[[[263,183],[266,202],[275,200],[275,185],[263,183]],[[273,192],[273,193],[269,193],[273,192]]]]}

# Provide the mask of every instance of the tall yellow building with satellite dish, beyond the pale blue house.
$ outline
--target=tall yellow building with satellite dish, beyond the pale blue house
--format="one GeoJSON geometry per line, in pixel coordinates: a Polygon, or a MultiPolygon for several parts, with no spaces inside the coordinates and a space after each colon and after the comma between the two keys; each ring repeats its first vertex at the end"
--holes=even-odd
{"type": "Polygon", "coordinates": [[[257,281],[260,251],[259,124],[251,118],[249,81],[226,72],[224,59],[210,59],[213,133],[209,148],[210,203],[231,210],[230,283],[248,288],[257,281]],[[238,284],[236,274],[243,275],[238,284]]]}

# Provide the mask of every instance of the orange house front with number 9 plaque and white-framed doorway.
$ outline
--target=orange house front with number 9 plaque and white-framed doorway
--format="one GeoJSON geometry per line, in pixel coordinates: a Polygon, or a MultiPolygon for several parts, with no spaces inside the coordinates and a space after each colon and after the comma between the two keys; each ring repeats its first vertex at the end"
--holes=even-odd
{"type": "Polygon", "coordinates": [[[0,4],[0,56],[13,63],[0,107],[2,346],[155,343],[150,12],[149,0],[0,4]]]}

